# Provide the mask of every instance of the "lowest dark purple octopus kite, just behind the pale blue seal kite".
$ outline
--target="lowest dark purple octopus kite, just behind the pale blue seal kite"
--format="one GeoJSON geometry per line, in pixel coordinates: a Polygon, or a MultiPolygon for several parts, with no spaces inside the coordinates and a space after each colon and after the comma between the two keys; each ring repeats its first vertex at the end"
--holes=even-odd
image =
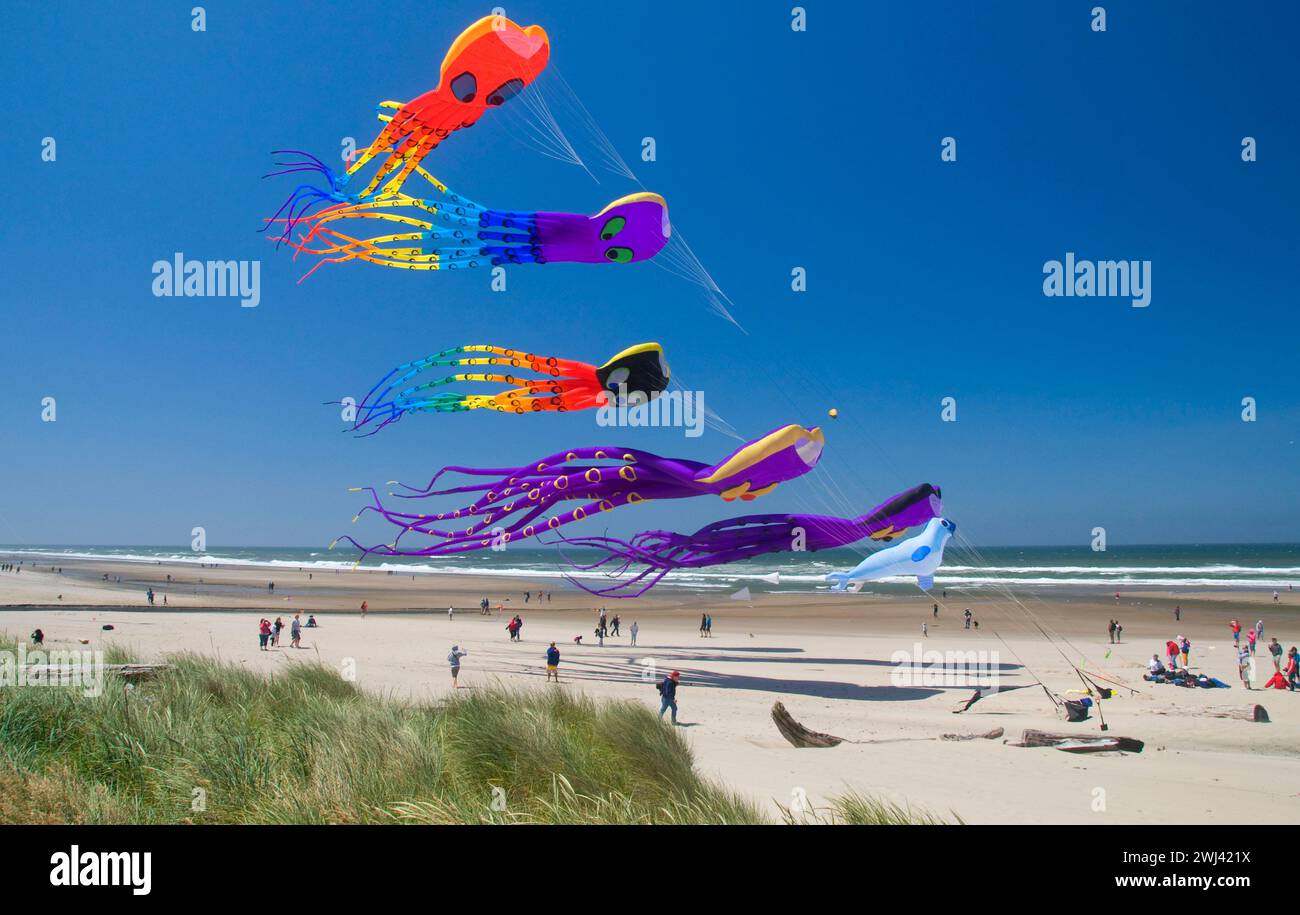
{"type": "Polygon", "coordinates": [[[770,552],[806,550],[832,550],[849,546],[863,538],[888,542],[907,528],[930,522],[941,509],[937,486],[920,483],[898,493],[866,515],[855,519],[824,515],[744,515],[715,521],[693,534],[670,530],[647,530],[630,541],[612,537],[564,538],[566,543],[594,547],[607,555],[590,564],[571,563],[581,572],[608,568],[615,580],[608,587],[588,587],[581,581],[571,581],[582,590],[608,598],[634,598],[659,584],[673,569],[697,569],[708,565],[736,563],[770,552]]]}

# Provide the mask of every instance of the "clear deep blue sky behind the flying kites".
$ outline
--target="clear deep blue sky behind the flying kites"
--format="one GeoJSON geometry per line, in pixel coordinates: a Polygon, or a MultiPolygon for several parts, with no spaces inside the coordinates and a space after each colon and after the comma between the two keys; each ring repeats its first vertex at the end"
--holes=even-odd
{"type": "MultiPolygon", "coordinates": [[[[646,506],[615,532],[861,512],[931,481],[978,543],[1300,539],[1292,4],[1112,3],[1104,34],[1093,3],[811,0],[806,32],[789,3],[507,4],[546,27],[552,70],[748,334],[650,264],[515,268],[504,294],[360,264],[299,285],[306,265],[256,231],[289,190],[260,179],[269,151],[364,146],[374,103],[432,88],[489,8],[213,3],[194,32],[191,5],[6,12],[0,542],[179,546],[202,525],[213,547],[326,543],[351,530],[348,486],[446,463],[722,458],[723,434],[593,413],[410,417],[356,441],[321,406],[458,343],[602,361],[647,339],[745,437],[824,422],[827,456],[763,503],[646,506]],[[177,251],[260,260],[260,305],[155,298],[151,265],[177,251]],[[1045,298],[1067,251],[1152,261],[1150,305],[1045,298]]],[[[512,209],[638,190],[562,127],[599,183],[540,155],[517,105],[426,165],[512,209]]]]}

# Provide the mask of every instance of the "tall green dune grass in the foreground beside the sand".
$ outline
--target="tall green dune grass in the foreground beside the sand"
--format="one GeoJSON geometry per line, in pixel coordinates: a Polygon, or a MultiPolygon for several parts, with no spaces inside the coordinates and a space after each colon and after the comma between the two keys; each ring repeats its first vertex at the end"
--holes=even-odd
{"type": "MultiPolygon", "coordinates": [[[[98,697],[0,688],[0,823],[772,821],[638,703],[490,686],[416,704],[315,663],[165,660],[135,685],[109,672],[98,697]]],[[[857,795],[818,819],[933,821],[857,795]]]]}

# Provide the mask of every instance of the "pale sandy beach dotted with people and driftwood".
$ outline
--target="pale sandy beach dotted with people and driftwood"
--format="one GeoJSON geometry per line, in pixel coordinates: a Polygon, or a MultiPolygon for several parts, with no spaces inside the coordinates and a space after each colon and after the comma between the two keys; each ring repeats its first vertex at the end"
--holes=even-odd
{"type": "MultiPolygon", "coordinates": [[[[811,806],[846,789],[956,815],[967,823],[1205,823],[1295,821],[1300,818],[1300,697],[1247,693],[1236,677],[1227,623],[1262,619],[1265,638],[1300,641],[1300,598],[1243,591],[958,595],[932,600],[874,595],[770,593],[750,602],[702,603],[699,595],[656,589],[608,602],[620,637],[595,643],[595,603],[576,590],[537,600],[537,580],[462,574],[389,574],[257,567],[199,568],[57,560],[53,571],[30,558],[21,573],[0,573],[0,632],[25,637],[35,626],[47,647],[124,645],[142,660],[195,651],[274,673],[306,660],[354,671],[365,689],[413,701],[451,693],[446,654],[469,651],[462,688],[493,681],[555,689],[543,681],[543,652],[563,652],[560,689],[654,704],[654,676],[677,669],[681,721],[701,769],[755,798],[811,806]],[[58,568],[62,572],[58,572],[58,568]],[[104,576],[108,581],[104,581],[104,576]],[[168,580],[170,576],[170,581],[168,580]],[[117,582],[118,577],[121,584],[117,582]],[[276,587],[266,587],[270,578],[276,587]],[[157,591],[148,608],[144,591],[157,591]],[[525,603],[524,591],[533,598],[525,603]],[[161,607],[162,597],[168,606],[161,607]],[[491,613],[478,611],[488,597],[491,613]],[[369,612],[359,612],[365,600],[369,612]],[[455,607],[448,619],[448,606],[455,607]],[[1182,620],[1174,621],[1174,607],[1182,620]],[[970,607],[979,630],[965,629],[970,607]],[[701,638],[699,617],[714,617],[701,638]],[[303,647],[257,649],[257,620],[313,612],[303,647]],[[507,638],[520,613],[523,641],[507,638]],[[1108,643],[1119,619],[1123,642],[1108,643]],[[638,645],[627,629],[636,620],[638,645]],[[922,624],[928,636],[922,634],[922,624]],[[110,633],[103,625],[112,624],[110,633]],[[1044,634],[1048,633],[1048,634],[1044,634]],[[573,638],[582,636],[582,643],[573,638]],[[1179,689],[1141,680],[1145,662],[1166,638],[1192,641],[1192,668],[1232,684],[1231,690],[1179,689]],[[1030,685],[953,708],[971,695],[961,681],[900,669],[896,652],[979,652],[1002,686],[1030,685]],[[985,654],[987,652],[987,654],[985,654]],[[1102,706],[1110,736],[1147,742],[1141,754],[1074,755],[1009,746],[1026,728],[1100,736],[1096,716],[1067,724],[1035,684],[1069,695],[1080,689],[1071,668],[1131,686],[1102,706]],[[814,730],[845,738],[833,749],[794,749],[771,719],[772,703],[814,730]],[[1208,706],[1258,702],[1268,724],[1209,717],[1208,706]],[[1001,740],[944,741],[941,734],[1005,729],[1001,740]]],[[[937,593],[936,593],[937,598],[937,593]]],[[[962,655],[957,655],[962,656],[962,655]]],[[[1260,684],[1271,675],[1262,650],[1260,684]]],[[[922,663],[928,659],[922,654],[922,663]]],[[[946,667],[946,659],[940,667],[946,667]]],[[[939,672],[942,673],[941,671],[939,672]]]]}

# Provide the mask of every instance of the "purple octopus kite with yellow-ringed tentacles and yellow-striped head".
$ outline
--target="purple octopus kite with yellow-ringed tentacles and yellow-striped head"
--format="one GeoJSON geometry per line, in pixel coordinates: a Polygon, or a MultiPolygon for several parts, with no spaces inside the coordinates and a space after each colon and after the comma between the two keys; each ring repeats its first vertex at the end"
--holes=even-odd
{"type": "Polygon", "coordinates": [[[650,499],[685,499],[712,494],[727,502],[749,502],[812,469],[822,458],[824,443],[820,429],[788,425],[741,446],[712,465],[660,458],[633,448],[590,447],[550,455],[515,468],[446,467],[424,489],[404,486],[411,494],[400,494],[400,498],[458,493],[484,495],[455,511],[421,515],[385,508],[378,494],[368,489],[374,496],[374,504],[363,508],[358,517],[365,511],[373,511],[400,528],[400,533],[391,543],[373,547],[361,546],[351,537],[338,539],[361,550],[361,559],[372,554],[447,556],[504,546],[620,506],[650,499]],[[448,472],[493,480],[434,490],[438,478],[448,472]],[[551,513],[560,502],[582,504],[551,513]],[[407,534],[421,534],[437,542],[420,548],[403,548],[400,541],[407,534]]]}

